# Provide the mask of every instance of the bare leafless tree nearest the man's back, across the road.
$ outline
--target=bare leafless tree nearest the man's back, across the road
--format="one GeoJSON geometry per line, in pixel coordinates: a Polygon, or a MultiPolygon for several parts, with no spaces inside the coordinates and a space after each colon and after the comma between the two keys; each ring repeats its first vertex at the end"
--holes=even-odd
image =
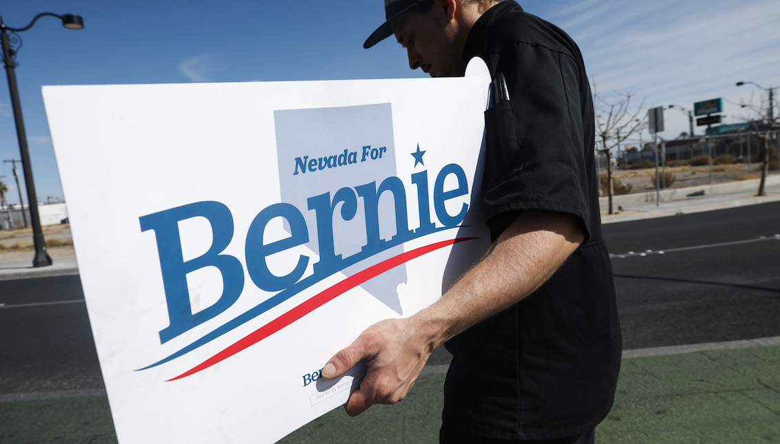
{"type": "MultiPolygon", "coordinates": [[[[646,117],[642,111],[644,100],[632,111],[631,98],[633,92],[619,93],[614,91],[609,97],[598,93],[594,86],[594,109],[596,111],[596,136],[601,139],[598,150],[607,157],[607,196],[609,199],[609,214],[615,214],[613,204],[615,188],[612,184],[612,161],[609,151],[620,144],[622,139],[646,127],[646,117]]],[[[601,181],[601,178],[599,178],[601,181]]]]}

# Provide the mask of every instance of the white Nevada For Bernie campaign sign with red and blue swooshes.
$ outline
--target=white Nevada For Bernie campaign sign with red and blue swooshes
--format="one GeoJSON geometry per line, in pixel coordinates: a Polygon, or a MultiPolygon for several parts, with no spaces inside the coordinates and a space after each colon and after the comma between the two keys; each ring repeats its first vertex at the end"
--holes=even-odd
{"type": "Polygon", "coordinates": [[[489,76],[44,86],[122,444],[275,442],[324,363],[488,246],[489,76]]]}

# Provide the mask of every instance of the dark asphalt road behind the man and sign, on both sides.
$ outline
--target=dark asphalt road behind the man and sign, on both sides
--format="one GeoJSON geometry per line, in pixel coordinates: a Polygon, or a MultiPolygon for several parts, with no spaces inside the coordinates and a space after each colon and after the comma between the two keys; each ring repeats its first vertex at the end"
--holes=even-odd
{"type": "MultiPolygon", "coordinates": [[[[780,203],[604,230],[624,348],[780,336],[780,203]]],[[[0,281],[0,338],[0,393],[103,386],[77,276],[0,281]]]]}

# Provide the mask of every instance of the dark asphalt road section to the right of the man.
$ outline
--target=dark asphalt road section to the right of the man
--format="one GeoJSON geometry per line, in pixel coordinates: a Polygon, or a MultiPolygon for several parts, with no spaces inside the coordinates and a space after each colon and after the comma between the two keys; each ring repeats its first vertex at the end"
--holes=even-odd
{"type": "Polygon", "coordinates": [[[625,349],[780,336],[780,203],[609,224],[605,238],[625,349]]]}

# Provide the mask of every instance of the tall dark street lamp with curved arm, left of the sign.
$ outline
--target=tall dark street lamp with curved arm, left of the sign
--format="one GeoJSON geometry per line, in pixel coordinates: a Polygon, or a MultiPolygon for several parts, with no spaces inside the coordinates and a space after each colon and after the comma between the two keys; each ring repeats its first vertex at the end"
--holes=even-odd
{"type": "MultiPolygon", "coordinates": [[[[16,60],[14,56],[22,46],[22,39],[17,32],[29,30],[37,19],[43,16],[57,17],[62,20],[62,26],[69,30],[80,30],[84,27],[81,16],[66,14],[58,16],[51,12],[43,12],[35,16],[29,25],[23,28],[12,28],[5,26],[2,16],[0,16],[0,40],[2,40],[2,61],[5,63],[5,73],[8,76],[8,87],[11,91],[11,104],[13,107],[13,118],[16,121],[16,136],[19,139],[19,150],[22,155],[22,168],[24,170],[24,185],[27,188],[27,203],[30,206],[30,219],[33,223],[33,244],[35,246],[35,257],[33,266],[51,265],[51,257],[46,252],[46,243],[44,233],[41,230],[41,217],[38,214],[38,198],[35,194],[35,182],[33,181],[33,168],[30,164],[30,153],[27,150],[27,132],[24,130],[24,119],[22,117],[22,105],[19,100],[19,88],[16,85],[16,60]]],[[[21,202],[20,202],[21,204],[21,202]]]]}

